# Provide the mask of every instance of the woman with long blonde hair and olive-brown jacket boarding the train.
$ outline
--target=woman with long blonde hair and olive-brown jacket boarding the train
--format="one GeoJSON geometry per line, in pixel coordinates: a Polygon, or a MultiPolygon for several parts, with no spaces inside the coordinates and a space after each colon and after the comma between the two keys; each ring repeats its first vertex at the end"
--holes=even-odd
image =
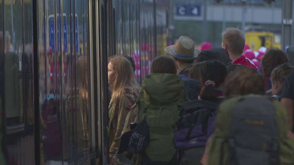
{"type": "Polygon", "coordinates": [[[108,84],[111,88],[109,105],[109,158],[118,152],[121,132],[130,108],[138,100],[139,85],[131,62],[123,56],[113,56],[108,63],[108,84]]]}

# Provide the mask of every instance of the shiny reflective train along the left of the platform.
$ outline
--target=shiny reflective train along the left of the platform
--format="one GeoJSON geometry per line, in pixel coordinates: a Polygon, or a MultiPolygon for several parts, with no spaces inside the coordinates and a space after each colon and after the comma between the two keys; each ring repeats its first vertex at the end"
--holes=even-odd
{"type": "Polygon", "coordinates": [[[167,0],[0,0],[0,164],[108,164],[107,62],[140,83],[167,45],[167,0]]]}

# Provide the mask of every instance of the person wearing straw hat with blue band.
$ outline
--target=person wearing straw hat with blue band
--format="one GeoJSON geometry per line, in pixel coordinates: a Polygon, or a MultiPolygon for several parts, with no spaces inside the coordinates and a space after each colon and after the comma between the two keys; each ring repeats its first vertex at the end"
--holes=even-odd
{"type": "Polygon", "coordinates": [[[189,37],[181,36],[175,45],[168,46],[164,50],[175,59],[178,67],[177,74],[189,77],[190,70],[194,66],[194,59],[200,53],[200,50],[195,48],[193,40],[189,37]]]}

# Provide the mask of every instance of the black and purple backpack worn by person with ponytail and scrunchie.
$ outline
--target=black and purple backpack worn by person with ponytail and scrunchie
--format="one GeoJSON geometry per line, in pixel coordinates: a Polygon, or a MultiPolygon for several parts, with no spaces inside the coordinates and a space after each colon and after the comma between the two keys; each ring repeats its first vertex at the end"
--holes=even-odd
{"type": "Polygon", "coordinates": [[[216,103],[207,100],[186,102],[176,122],[175,147],[180,165],[200,164],[208,138],[213,134],[216,103]]]}

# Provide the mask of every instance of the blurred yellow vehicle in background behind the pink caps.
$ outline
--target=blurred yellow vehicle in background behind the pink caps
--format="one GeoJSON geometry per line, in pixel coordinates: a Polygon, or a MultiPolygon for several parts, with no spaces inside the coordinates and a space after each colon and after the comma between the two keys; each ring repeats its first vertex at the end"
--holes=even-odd
{"type": "Polygon", "coordinates": [[[258,51],[262,46],[269,48],[281,48],[281,36],[273,32],[247,31],[245,33],[246,44],[253,51],[258,51]]]}

